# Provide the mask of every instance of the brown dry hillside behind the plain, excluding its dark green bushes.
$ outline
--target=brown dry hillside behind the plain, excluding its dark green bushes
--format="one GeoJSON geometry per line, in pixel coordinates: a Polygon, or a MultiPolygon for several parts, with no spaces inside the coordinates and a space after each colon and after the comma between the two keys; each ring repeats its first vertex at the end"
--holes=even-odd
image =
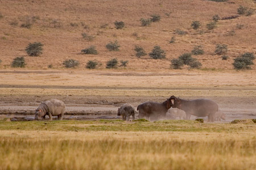
{"type": "MultiPolygon", "coordinates": [[[[170,69],[170,61],[183,53],[189,53],[196,45],[203,46],[204,54],[193,56],[202,68],[233,69],[233,59],[250,52],[256,54],[256,14],[239,15],[236,19],[219,20],[217,28],[208,30],[213,15],[220,18],[236,16],[242,5],[256,9],[252,0],[113,0],[113,1],[0,1],[0,69],[10,68],[15,57],[24,56],[27,69],[63,69],[65,59],[80,62],[78,69],[85,69],[86,62],[96,59],[105,68],[111,58],[129,61],[128,70],[170,69]],[[160,22],[142,27],[140,19],[152,14],[161,16],[160,22]],[[114,22],[123,21],[125,27],[116,29],[114,22]],[[195,30],[191,23],[200,21],[195,30]],[[21,27],[31,24],[31,28],[21,27]],[[238,25],[243,25],[241,29],[238,25]],[[177,35],[177,29],[188,32],[177,35]],[[94,36],[92,41],[83,39],[81,33],[94,36]],[[175,36],[175,43],[169,43],[175,36]],[[118,41],[118,52],[106,49],[109,41],[118,41]],[[30,57],[25,48],[30,42],[41,42],[43,54],[30,57]],[[228,45],[228,60],[214,53],[217,44],[228,45]],[[94,45],[97,55],[82,54],[81,50],[94,45]],[[135,56],[134,46],[140,45],[150,53],[155,45],[166,51],[166,59],[151,59],[148,55],[135,56]]],[[[255,63],[255,61],[254,61],[255,63]]],[[[256,66],[251,66],[256,70],[256,66]]]]}

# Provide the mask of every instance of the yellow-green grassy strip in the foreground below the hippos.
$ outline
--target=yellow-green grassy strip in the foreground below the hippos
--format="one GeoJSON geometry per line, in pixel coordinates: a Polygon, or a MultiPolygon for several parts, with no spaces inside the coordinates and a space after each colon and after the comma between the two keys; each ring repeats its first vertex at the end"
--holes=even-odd
{"type": "Polygon", "coordinates": [[[0,169],[255,169],[256,124],[0,121],[0,169]]]}

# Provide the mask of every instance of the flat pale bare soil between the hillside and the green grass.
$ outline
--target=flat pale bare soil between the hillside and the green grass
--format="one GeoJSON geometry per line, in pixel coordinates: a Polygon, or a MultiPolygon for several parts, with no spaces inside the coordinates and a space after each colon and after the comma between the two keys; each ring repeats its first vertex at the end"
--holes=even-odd
{"type": "MultiPolygon", "coordinates": [[[[65,118],[118,118],[125,103],[162,102],[171,95],[216,101],[227,120],[256,118],[256,74],[216,72],[0,71],[0,113],[34,117],[41,101],[57,98],[65,118]],[[193,83],[190,83],[193,82],[193,83]],[[103,117],[102,117],[103,116],[103,117]]],[[[195,119],[196,117],[192,117],[195,119]]]]}

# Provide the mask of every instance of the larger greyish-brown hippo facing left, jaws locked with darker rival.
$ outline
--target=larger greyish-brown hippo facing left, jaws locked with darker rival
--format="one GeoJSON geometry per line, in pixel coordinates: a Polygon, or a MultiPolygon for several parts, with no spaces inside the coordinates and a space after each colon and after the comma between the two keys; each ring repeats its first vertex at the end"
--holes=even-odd
{"type": "Polygon", "coordinates": [[[189,120],[191,114],[197,117],[208,116],[208,122],[214,122],[215,113],[218,111],[218,104],[209,99],[184,100],[171,96],[173,108],[178,108],[186,112],[186,119],[189,120]]]}

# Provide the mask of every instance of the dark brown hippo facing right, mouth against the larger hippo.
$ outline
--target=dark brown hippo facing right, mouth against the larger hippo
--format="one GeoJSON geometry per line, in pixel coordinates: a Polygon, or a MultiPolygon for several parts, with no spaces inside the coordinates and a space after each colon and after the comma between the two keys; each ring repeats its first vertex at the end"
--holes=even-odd
{"type": "Polygon", "coordinates": [[[138,105],[139,118],[146,118],[149,121],[161,120],[166,118],[166,112],[172,106],[171,100],[167,99],[163,103],[147,101],[138,105]]]}

